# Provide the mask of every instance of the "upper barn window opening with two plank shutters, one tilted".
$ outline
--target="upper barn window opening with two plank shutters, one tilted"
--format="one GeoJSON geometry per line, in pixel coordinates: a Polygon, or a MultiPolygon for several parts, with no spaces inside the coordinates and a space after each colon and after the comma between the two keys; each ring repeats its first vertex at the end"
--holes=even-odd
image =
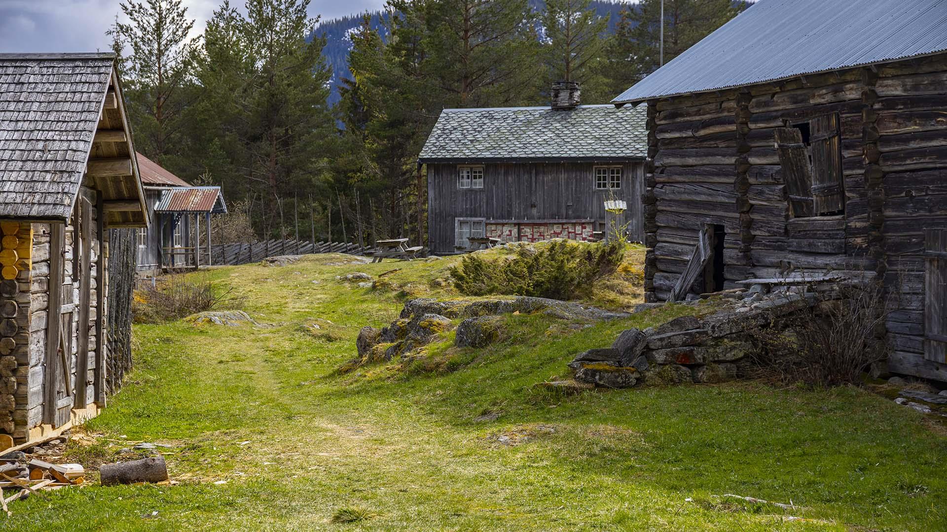
{"type": "Polygon", "coordinates": [[[777,128],[776,148],[794,218],[845,211],[838,115],[777,128]]]}

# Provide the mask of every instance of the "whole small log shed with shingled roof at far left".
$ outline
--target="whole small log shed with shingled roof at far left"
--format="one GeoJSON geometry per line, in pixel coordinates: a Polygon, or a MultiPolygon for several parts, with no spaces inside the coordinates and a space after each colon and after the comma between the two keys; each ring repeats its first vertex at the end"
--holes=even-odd
{"type": "Polygon", "coordinates": [[[0,54],[0,449],[105,404],[108,228],[147,225],[114,54],[0,54]]]}

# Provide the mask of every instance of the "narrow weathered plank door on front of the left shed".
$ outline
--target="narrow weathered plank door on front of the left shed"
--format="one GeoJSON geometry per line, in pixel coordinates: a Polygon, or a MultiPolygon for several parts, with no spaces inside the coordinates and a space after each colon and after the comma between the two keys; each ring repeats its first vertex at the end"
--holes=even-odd
{"type": "MultiPolygon", "coordinates": [[[[52,223],[49,238],[49,303],[46,314],[43,422],[69,420],[72,390],[72,278],[65,277],[65,226],[52,223]]],[[[71,273],[71,272],[70,272],[71,273]]]]}

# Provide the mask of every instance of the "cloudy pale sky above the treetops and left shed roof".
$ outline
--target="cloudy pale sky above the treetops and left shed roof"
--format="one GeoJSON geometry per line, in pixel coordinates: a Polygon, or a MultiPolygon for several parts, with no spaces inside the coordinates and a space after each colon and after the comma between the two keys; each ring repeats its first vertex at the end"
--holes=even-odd
{"type": "MultiPolygon", "coordinates": [[[[105,30],[120,10],[121,0],[0,0],[0,52],[107,51],[105,30]]],[[[184,0],[188,15],[202,33],[206,20],[222,0],[184,0]]],[[[242,7],[241,0],[231,0],[242,7]]],[[[378,9],[384,0],[313,0],[310,14],[331,19],[378,9]]]]}

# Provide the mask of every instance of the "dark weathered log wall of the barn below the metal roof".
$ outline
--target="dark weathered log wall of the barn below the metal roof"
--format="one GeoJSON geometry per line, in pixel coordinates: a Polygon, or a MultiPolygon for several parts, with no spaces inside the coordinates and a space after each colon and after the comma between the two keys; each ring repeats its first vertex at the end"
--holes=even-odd
{"type": "Polygon", "coordinates": [[[646,300],[667,299],[698,231],[723,224],[727,287],[807,271],[875,279],[892,301],[892,369],[947,381],[947,364],[923,358],[923,229],[947,229],[945,84],[941,54],[649,101],[646,300]],[[844,213],[794,219],[775,130],[828,114],[844,213]]]}

